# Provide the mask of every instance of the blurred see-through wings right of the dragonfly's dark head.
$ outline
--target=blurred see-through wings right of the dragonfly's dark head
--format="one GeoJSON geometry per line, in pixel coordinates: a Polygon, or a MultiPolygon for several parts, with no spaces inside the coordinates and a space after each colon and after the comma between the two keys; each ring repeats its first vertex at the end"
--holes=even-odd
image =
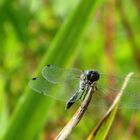
{"type": "MultiPolygon", "coordinates": [[[[117,96],[125,76],[101,74],[97,82],[98,90],[94,93],[92,104],[96,107],[109,107],[117,96]]],[[[121,99],[121,109],[140,109],[140,77],[133,76],[121,99]]]]}

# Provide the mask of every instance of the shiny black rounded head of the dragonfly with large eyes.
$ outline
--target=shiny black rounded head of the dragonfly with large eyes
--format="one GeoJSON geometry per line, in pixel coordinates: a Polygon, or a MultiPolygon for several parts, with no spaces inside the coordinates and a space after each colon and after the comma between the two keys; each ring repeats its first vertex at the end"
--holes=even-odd
{"type": "Polygon", "coordinates": [[[100,78],[100,74],[95,70],[88,70],[86,71],[86,78],[91,83],[98,81],[100,78]]]}

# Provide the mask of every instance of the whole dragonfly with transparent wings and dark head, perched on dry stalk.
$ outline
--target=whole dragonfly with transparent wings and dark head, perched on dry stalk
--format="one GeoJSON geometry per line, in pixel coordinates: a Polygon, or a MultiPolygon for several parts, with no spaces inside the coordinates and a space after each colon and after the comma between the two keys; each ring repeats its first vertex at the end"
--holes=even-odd
{"type": "MultiPolygon", "coordinates": [[[[64,69],[56,65],[47,65],[42,69],[41,76],[29,81],[29,87],[37,93],[65,101],[66,109],[69,109],[76,101],[83,101],[89,88],[92,87],[93,104],[103,107],[113,102],[124,77],[100,73],[93,69],[64,69]]],[[[139,84],[140,77],[133,76],[123,94],[120,108],[140,108],[139,84]]]]}

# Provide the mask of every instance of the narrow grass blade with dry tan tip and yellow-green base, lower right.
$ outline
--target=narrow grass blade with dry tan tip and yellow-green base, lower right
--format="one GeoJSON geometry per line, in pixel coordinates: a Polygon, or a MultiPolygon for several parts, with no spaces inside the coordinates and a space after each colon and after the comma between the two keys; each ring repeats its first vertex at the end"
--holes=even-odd
{"type": "Polygon", "coordinates": [[[109,110],[106,112],[105,116],[101,119],[101,121],[98,123],[97,127],[95,128],[95,130],[93,130],[91,132],[91,134],[88,137],[88,140],[104,140],[106,139],[106,136],[109,132],[109,129],[112,125],[112,122],[115,118],[119,103],[121,101],[121,97],[124,93],[124,90],[131,78],[131,76],[133,75],[132,72],[130,72],[125,80],[124,83],[120,89],[120,92],[118,93],[117,97],[115,98],[114,102],[112,103],[111,107],[109,108],[109,110]]]}

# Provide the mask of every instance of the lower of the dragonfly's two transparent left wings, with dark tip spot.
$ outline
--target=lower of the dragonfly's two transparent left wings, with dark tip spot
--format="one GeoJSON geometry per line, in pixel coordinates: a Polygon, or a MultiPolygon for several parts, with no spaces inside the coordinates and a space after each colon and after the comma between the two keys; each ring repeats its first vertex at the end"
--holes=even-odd
{"type": "Polygon", "coordinates": [[[65,102],[78,91],[79,80],[66,81],[63,84],[53,84],[40,76],[30,80],[29,87],[37,93],[65,102]]]}

